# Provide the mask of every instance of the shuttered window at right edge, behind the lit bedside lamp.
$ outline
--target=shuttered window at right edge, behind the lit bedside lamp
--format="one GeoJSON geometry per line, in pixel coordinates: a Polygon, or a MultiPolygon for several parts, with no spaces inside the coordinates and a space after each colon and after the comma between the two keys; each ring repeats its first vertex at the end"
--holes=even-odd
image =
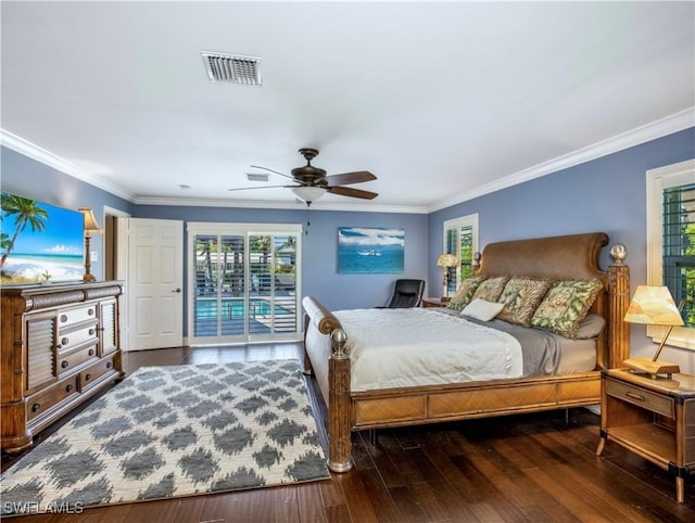
{"type": "Polygon", "coordinates": [[[695,183],[664,189],[662,280],[695,326],[695,183]]]}

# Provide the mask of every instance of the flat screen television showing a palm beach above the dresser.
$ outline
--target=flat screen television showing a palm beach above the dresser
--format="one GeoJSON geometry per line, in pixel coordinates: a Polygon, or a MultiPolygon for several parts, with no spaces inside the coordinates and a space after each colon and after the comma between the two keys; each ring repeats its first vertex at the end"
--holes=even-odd
{"type": "Polygon", "coordinates": [[[85,217],[35,200],[0,194],[0,283],[81,281],[85,217]]]}

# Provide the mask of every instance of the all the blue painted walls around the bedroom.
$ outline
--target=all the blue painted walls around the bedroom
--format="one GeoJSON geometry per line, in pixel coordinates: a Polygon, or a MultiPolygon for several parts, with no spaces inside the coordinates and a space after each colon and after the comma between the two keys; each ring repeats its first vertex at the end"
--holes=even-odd
{"type": "MultiPolygon", "coordinates": [[[[308,220],[311,226],[303,238],[303,291],[338,309],[384,304],[393,280],[401,276],[339,275],[338,227],[404,228],[406,260],[402,277],[426,278],[430,289],[428,294],[438,295],[441,270],[434,265],[434,259],[443,245],[443,221],[472,213],[478,213],[480,218],[481,248],[486,243],[502,240],[605,231],[611,243],[620,242],[628,246],[627,263],[631,266],[634,289],[646,281],[645,173],[694,158],[695,127],[453,205],[429,216],[304,208],[271,211],[132,205],[14,151],[3,148],[1,154],[0,187],[3,191],[67,208],[86,205],[93,208],[97,216],[103,216],[103,206],[108,205],[141,218],[305,226],[308,220]]],[[[102,248],[100,237],[94,237],[92,246],[97,251],[102,248]]],[[[607,253],[604,253],[603,266],[607,267],[609,263],[607,253]]],[[[93,264],[92,272],[100,277],[100,264],[93,264]]],[[[649,348],[644,329],[637,332],[633,328],[632,347],[636,355],[643,355],[641,350],[649,348]]],[[[687,358],[691,361],[685,369],[692,372],[695,353],[688,353],[687,358]]]]}

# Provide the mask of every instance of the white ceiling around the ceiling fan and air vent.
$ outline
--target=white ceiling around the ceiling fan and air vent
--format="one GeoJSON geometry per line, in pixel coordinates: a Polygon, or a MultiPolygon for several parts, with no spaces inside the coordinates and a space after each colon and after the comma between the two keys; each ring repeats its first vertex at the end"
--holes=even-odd
{"type": "Polygon", "coordinates": [[[294,207],[287,189],[227,190],[314,146],[379,193],[316,207],[427,212],[695,125],[690,1],[1,9],[4,143],[136,203],[294,207]],[[203,50],[260,58],[263,87],[211,84],[203,50]]]}

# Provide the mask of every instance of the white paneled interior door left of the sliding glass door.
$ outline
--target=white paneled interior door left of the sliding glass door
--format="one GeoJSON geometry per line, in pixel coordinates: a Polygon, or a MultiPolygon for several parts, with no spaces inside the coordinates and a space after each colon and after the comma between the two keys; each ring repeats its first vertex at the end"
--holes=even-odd
{"type": "Polygon", "coordinates": [[[130,350],[184,344],[184,222],[130,218],[128,345],[130,350]]]}

